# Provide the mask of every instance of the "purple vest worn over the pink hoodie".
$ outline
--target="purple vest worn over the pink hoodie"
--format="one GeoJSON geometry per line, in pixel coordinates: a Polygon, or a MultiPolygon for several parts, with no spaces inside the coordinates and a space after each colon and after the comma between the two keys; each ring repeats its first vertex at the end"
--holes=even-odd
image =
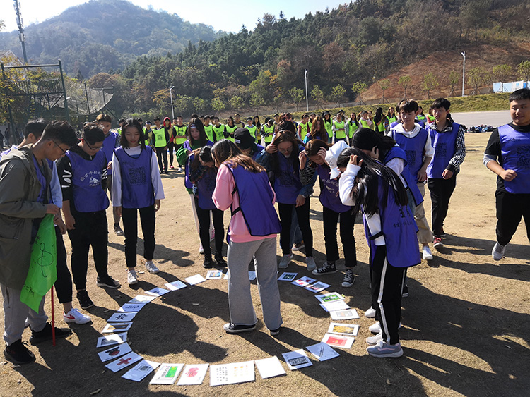
{"type": "Polygon", "coordinates": [[[273,193],[265,171],[253,173],[242,166],[233,167],[225,163],[234,177],[235,189],[240,206],[232,207],[232,216],[241,211],[251,236],[269,236],[281,232],[280,219],[272,204],[273,193]]]}

